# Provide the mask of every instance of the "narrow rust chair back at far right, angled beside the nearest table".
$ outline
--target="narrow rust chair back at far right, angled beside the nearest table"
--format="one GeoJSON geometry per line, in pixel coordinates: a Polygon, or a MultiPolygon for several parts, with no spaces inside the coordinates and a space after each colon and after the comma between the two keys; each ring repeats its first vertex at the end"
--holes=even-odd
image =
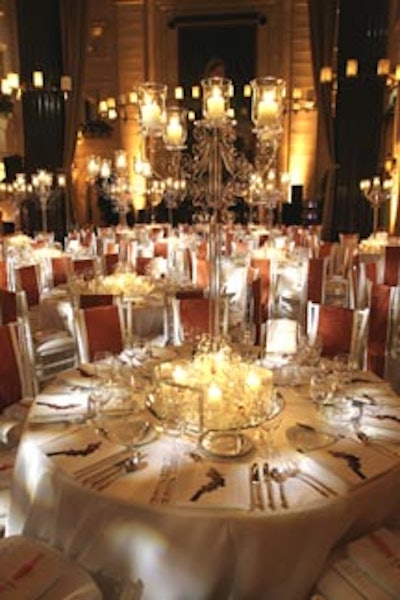
{"type": "Polygon", "coordinates": [[[386,344],[390,321],[391,287],[374,283],[371,289],[367,367],[380,377],[385,373],[386,344]]]}

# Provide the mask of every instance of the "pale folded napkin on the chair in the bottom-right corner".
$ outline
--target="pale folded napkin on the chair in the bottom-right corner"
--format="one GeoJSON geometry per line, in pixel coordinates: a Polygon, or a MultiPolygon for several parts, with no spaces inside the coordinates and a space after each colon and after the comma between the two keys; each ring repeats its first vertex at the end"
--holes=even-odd
{"type": "Polygon", "coordinates": [[[378,529],[347,544],[346,553],[391,598],[400,598],[398,534],[386,528],[378,529]]]}

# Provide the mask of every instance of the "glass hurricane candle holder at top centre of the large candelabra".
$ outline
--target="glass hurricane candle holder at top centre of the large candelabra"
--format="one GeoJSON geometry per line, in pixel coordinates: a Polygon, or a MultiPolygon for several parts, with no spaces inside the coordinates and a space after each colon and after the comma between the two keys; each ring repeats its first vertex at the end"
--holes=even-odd
{"type": "Polygon", "coordinates": [[[209,77],[201,81],[203,90],[203,117],[212,124],[228,119],[232,82],[225,77],[209,77]]]}

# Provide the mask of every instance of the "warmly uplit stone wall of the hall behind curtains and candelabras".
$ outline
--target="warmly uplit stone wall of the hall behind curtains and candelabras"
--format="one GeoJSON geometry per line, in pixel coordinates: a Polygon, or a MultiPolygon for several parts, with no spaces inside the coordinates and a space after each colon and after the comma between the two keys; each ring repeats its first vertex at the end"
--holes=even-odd
{"type": "MultiPolygon", "coordinates": [[[[6,26],[0,25],[4,40],[3,70],[19,67],[16,39],[16,2],[4,1],[6,26]]],[[[327,3],[327,5],[329,2],[327,3]]],[[[335,4],[332,2],[331,4],[335,4]]],[[[392,64],[399,62],[396,43],[396,23],[399,22],[398,1],[389,2],[389,46],[392,64]],[[392,33],[391,33],[392,32],[392,33]]],[[[288,92],[295,87],[313,87],[309,3],[306,0],[224,0],[218,4],[200,0],[87,0],[88,40],[82,89],[82,123],[96,119],[100,98],[126,93],[140,81],[163,81],[173,88],[179,81],[179,23],[186,24],[206,15],[207,23],[229,26],[255,18],[256,65],[255,75],[270,74],[283,77],[288,92]]],[[[1,19],[0,19],[1,23],[1,19]]],[[[0,40],[2,41],[2,40],[0,40]]],[[[245,51],[245,49],[244,49],[245,51]]],[[[385,121],[381,152],[397,156],[397,126],[394,113],[385,121]]],[[[287,111],[284,135],[281,140],[280,166],[292,174],[294,189],[301,189],[304,202],[319,199],[320,183],[324,177],[326,152],[320,143],[318,111],[287,111]]],[[[24,156],[23,124],[20,103],[7,123],[0,124],[0,155],[24,156]]],[[[128,151],[130,159],[140,144],[136,119],[113,123],[110,136],[79,135],[72,164],[73,209],[71,219],[77,224],[99,224],[100,214],[88,188],[86,161],[91,154],[112,157],[117,148],[128,151]]],[[[397,174],[396,174],[397,178],[397,174]]],[[[398,182],[395,182],[396,189],[398,182]]],[[[342,202],[343,204],[343,202],[342,202]]],[[[343,207],[342,207],[343,208],[343,207]]],[[[336,211],[337,212],[337,211],[336,211]]],[[[354,214],[354,211],[352,211],[354,214]]],[[[364,212],[368,212],[364,211],[364,212]]],[[[346,213],[345,213],[346,217],[346,213]]],[[[70,225],[70,224],[67,224],[70,225]]],[[[335,226],[342,227],[336,219],[335,226]]],[[[351,223],[347,224],[351,228],[351,223]]],[[[346,226],[346,222],[344,222],[346,226]]],[[[342,227],[343,229],[343,227],[342,227]]]]}

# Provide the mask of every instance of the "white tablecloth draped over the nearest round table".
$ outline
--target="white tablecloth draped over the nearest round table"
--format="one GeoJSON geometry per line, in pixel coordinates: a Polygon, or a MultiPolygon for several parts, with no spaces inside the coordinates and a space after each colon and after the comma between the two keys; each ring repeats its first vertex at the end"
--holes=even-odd
{"type": "Polygon", "coordinates": [[[287,431],[299,421],[318,427],[320,421],[307,384],[294,383],[279,387],[285,408],[273,433],[275,454],[291,452],[303,461],[315,482],[324,481],[332,491],[327,497],[321,488],[293,477],[285,482],[289,508],[281,506],[273,482],[275,510],[268,507],[263,483],[262,507],[255,509],[249,470],[271,449],[271,433],[265,438],[257,430],[249,433],[255,449],[235,460],[211,458],[195,442],[159,433],[141,447],[145,458],[137,471],[100,477],[102,485],[82,479],[110,456],[116,461],[121,447],[85,420],[95,384],[76,371],[60,375],[30,409],[17,453],[7,534],[24,532],[61,549],[91,572],[107,600],[308,598],[337,544],[398,518],[400,398],[362,373],[353,393],[373,396],[373,409],[381,415],[390,411],[391,428],[376,443],[346,434],[329,448],[298,452],[289,446],[287,431]],[[357,454],[365,469],[362,478],[346,461],[329,458],[336,444],[357,454]],[[211,467],[223,485],[194,500],[211,467]]]}

